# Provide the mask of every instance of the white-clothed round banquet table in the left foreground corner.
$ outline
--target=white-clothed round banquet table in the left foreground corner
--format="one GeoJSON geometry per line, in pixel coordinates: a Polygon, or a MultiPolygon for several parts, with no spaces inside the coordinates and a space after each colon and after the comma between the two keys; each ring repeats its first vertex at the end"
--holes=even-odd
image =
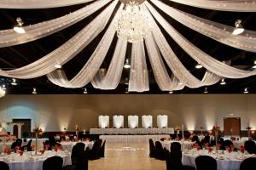
{"type": "Polygon", "coordinates": [[[51,150],[46,150],[43,156],[35,155],[34,151],[24,152],[23,156],[17,153],[12,153],[7,156],[0,155],[0,161],[7,162],[10,170],[42,170],[44,160],[51,156],[61,156],[63,166],[71,165],[71,154],[69,152],[55,152],[51,150]]]}

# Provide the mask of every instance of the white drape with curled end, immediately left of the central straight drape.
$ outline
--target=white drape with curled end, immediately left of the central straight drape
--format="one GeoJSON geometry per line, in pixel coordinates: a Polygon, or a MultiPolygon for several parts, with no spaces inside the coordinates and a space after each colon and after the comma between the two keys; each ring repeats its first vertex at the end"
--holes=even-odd
{"type": "Polygon", "coordinates": [[[101,70],[96,73],[96,76],[90,81],[94,88],[100,89],[115,89],[117,88],[122,76],[123,65],[125,61],[127,42],[118,39],[116,44],[113,59],[108,67],[107,74],[101,70]]]}

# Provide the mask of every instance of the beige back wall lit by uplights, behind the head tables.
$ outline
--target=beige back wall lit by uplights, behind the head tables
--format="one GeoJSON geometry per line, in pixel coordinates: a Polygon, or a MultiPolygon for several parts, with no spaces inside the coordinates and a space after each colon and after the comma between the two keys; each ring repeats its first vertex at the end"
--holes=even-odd
{"type": "MultiPolygon", "coordinates": [[[[211,129],[218,123],[223,127],[223,117],[230,114],[241,117],[241,129],[247,124],[256,127],[256,95],[253,94],[120,94],[120,95],[6,95],[0,99],[0,120],[31,118],[32,127],[38,122],[44,131],[73,130],[76,124],[97,127],[99,115],[127,116],[166,114],[169,127],[184,124],[185,129],[195,130],[200,125],[211,129]]],[[[1,121],[0,121],[1,122],[1,121]]],[[[140,119],[141,124],[141,119],[140,119]]]]}

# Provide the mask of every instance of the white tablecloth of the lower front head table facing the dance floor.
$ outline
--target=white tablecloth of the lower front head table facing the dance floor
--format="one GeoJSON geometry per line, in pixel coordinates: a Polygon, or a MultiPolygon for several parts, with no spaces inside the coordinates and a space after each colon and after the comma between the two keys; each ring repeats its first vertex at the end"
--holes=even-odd
{"type": "Polygon", "coordinates": [[[169,135],[101,135],[100,139],[108,143],[147,143],[149,139],[160,140],[169,135]]]}

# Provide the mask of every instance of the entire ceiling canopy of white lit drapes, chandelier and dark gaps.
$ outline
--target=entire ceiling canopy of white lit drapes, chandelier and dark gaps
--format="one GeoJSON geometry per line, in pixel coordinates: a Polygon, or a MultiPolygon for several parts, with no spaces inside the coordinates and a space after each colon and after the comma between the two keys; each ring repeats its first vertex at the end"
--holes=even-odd
{"type": "MultiPolygon", "coordinates": [[[[254,1],[3,0],[0,8],[7,23],[0,31],[2,84],[16,78],[39,80],[26,88],[114,90],[123,84],[129,92],[157,87],[178,93],[222,79],[239,86],[256,74],[254,1]],[[25,33],[8,24],[15,25],[15,17],[24,21],[25,33]],[[236,17],[245,27],[239,35],[232,34],[236,17]]],[[[240,93],[247,86],[239,86],[240,93]]]]}

